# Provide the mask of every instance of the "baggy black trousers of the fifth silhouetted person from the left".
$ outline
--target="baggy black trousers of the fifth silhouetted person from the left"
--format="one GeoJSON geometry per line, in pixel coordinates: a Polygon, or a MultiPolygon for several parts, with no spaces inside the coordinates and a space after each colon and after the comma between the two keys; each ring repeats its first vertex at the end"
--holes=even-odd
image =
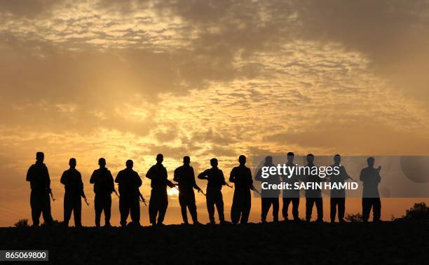
{"type": "Polygon", "coordinates": [[[149,220],[151,224],[161,224],[164,221],[168,208],[167,188],[153,188],[149,200],[149,220]],[[158,222],[156,221],[158,215],[158,222]]]}

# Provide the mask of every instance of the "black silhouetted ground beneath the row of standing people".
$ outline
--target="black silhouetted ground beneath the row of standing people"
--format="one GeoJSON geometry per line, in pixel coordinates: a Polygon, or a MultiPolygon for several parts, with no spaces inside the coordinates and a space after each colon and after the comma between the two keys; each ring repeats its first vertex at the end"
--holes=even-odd
{"type": "MultiPolygon", "coordinates": [[[[53,264],[425,264],[428,220],[318,224],[0,228],[1,250],[53,264]]],[[[27,262],[27,261],[25,261],[27,262]]]]}

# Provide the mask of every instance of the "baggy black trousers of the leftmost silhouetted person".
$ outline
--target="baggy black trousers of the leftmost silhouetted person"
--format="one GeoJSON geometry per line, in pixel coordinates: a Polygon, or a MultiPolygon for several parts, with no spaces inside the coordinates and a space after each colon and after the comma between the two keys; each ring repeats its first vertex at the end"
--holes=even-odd
{"type": "Polygon", "coordinates": [[[43,215],[43,220],[46,224],[53,223],[52,215],[50,215],[50,198],[48,191],[32,189],[32,193],[30,194],[30,205],[32,206],[32,219],[35,226],[39,225],[40,215],[43,215]]]}

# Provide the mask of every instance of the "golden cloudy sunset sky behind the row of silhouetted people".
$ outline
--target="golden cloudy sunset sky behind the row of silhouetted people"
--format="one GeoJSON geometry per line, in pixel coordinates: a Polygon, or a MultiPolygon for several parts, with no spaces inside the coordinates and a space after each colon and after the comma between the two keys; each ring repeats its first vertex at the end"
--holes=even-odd
{"type": "Polygon", "coordinates": [[[29,218],[39,150],[57,219],[70,157],[92,197],[99,157],[229,176],[239,154],[428,154],[428,36],[428,1],[0,1],[0,225],[29,218]]]}

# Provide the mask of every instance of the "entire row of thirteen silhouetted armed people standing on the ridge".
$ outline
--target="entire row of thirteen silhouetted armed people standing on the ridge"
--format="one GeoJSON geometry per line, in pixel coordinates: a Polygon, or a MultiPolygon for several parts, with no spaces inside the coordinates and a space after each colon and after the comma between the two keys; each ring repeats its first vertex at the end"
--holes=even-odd
{"type": "MultiPolygon", "coordinates": [[[[54,199],[50,189],[50,177],[48,168],[43,163],[44,154],[36,153],[36,163],[31,165],[27,172],[27,181],[31,185],[30,205],[32,208],[32,221],[34,226],[39,226],[40,215],[43,215],[46,224],[53,224],[53,218],[50,213],[50,196],[54,199]]],[[[307,166],[314,166],[313,154],[306,156],[307,166]]],[[[322,179],[318,175],[308,175],[304,179],[298,175],[279,176],[271,174],[268,178],[261,177],[261,169],[257,172],[255,180],[258,182],[268,182],[270,184],[278,184],[286,182],[294,184],[297,182],[337,182],[344,183],[347,179],[352,179],[346,172],[346,168],[341,165],[341,156],[334,156],[334,166],[339,167],[339,175],[322,179]]],[[[280,190],[262,189],[257,191],[253,185],[252,171],[246,167],[246,157],[241,155],[238,157],[239,165],[231,170],[229,182],[234,184],[233,202],[231,206],[231,223],[246,224],[250,215],[251,208],[251,191],[255,191],[261,195],[261,222],[266,222],[266,217],[270,208],[273,210],[273,221],[278,222],[280,208],[280,190]]],[[[98,161],[100,168],[94,170],[90,177],[90,184],[93,184],[95,198],[95,226],[100,226],[102,212],[104,212],[104,225],[110,226],[111,217],[111,193],[115,193],[119,197],[119,210],[121,213],[121,226],[127,225],[128,215],[131,217],[129,225],[140,226],[140,201],[146,204],[139,187],[142,186],[142,179],[139,174],[132,170],[133,162],[126,161],[126,168],[118,172],[114,179],[111,172],[106,168],[106,160],[100,158],[98,161]],[[118,184],[118,192],[116,192],[114,183],[118,184]]],[[[189,156],[184,156],[183,165],[176,168],[174,171],[173,183],[168,179],[167,169],[163,165],[163,155],[156,156],[156,164],[152,165],[147,171],[146,177],[151,179],[151,196],[149,199],[149,220],[153,226],[162,226],[165,213],[168,208],[168,193],[167,187],[179,190],[179,205],[182,211],[184,224],[189,224],[187,211],[189,210],[193,224],[198,222],[196,199],[194,189],[202,193],[206,197],[207,212],[210,219],[208,224],[215,224],[214,207],[217,209],[217,214],[220,224],[228,224],[224,217],[224,200],[222,196],[222,187],[230,186],[225,181],[224,173],[218,168],[217,158],[210,160],[211,168],[204,170],[198,174],[198,179],[207,180],[206,193],[196,184],[195,174],[191,166],[189,156]]],[[[287,154],[286,165],[294,166],[294,154],[287,154]]],[[[369,214],[373,210],[374,222],[380,221],[381,201],[379,198],[378,185],[381,181],[379,172],[381,167],[374,168],[374,158],[367,158],[367,168],[363,168],[360,172],[360,181],[363,182],[362,191],[362,219],[367,222],[369,214]]],[[[81,173],[76,170],[76,159],[70,158],[70,168],[65,170],[61,176],[60,182],[64,184],[64,225],[68,226],[71,212],[74,214],[74,224],[76,227],[81,226],[81,198],[89,205],[86,195],[83,191],[83,182],[81,173]]],[[[266,156],[264,166],[273,166],[273,158],[266,156]]],[[[354,181],[354,179],[352,179],[354,181]]],[[[317,222],[323,222],[322,209],[322,191],[321,189],[306,189],[306,221],[311,220],[313,206],[317,210],[317,222]]],[[[282,191],[282,217],[288,220],[288,208],[292,203],[292,216],[294,221],[299,219],[299,190],[284,189],[282,191]]],[[[345,222],[344,213],[346,207],[346,191],[345,189],[332,189],[330,198],[330,219],[335,222],[338,216],[339,222],[345,222]]]]}

